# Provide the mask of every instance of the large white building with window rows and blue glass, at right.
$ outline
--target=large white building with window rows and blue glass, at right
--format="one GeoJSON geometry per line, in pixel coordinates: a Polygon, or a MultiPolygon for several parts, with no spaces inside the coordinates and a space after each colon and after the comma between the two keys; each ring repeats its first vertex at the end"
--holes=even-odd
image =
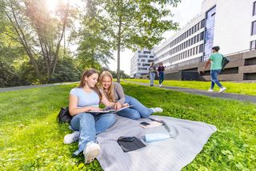
{"type": "MultiPolygon", "coordinates": [[[[166,78],[181,79],[182,72],[202,70],[212,46],[230,56],[222,80],[256,80],[255,0],[203,1],[201,13],[154,50],[154,63],[166,66],[166,78]]],[[[209,74],[203,78],[210,80],[209,74]]]]}

